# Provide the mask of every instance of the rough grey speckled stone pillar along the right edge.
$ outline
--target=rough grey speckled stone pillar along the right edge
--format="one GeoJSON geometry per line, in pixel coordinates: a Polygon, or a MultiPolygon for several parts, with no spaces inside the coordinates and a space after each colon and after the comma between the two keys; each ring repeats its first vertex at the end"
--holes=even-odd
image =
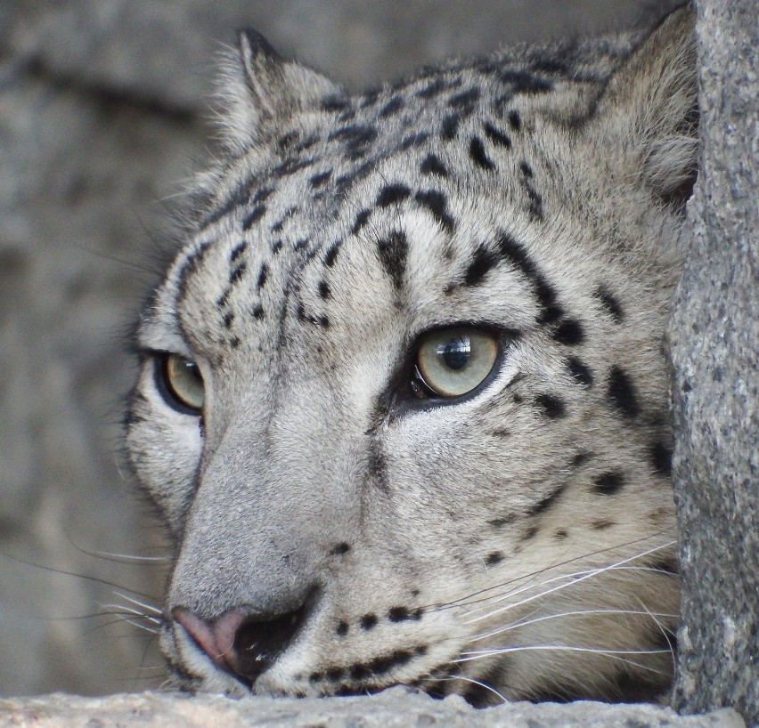
{"type": "Polygon", "coordinates": [[[674,704],[759,723],[759,2],[700,0],[700,176],[674,299],[674,704]]]}

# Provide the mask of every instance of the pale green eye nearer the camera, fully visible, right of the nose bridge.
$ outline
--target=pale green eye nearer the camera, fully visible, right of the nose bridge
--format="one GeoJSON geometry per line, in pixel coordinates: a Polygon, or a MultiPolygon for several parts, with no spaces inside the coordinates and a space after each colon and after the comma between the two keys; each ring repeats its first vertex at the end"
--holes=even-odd
{"type": "Polygon", "coordinates": [[[498,339],[477,328],[443,328],[432,331],[421,340],[416,366],[419,384],[428,395],[459,397],[476,389],[490,374],[498,356],[498,339]]]}

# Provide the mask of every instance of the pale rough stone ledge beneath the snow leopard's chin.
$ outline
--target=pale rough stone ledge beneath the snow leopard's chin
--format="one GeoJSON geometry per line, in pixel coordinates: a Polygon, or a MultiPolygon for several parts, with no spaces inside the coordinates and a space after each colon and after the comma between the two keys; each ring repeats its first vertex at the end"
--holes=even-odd
{"type": "Polygon", "coordinates": [[[476,710],[458,696],[432,700],[401,688],[371,698],[190,698],[143,692],[107,698],[55,693],[41,698],[0,700],[0,726],[14,728],[373,728],[446,726],[457,728],[745,728],[734,710],[706,716],[678,716],[652,705],[577,702],[510,703],[476,710]]]}

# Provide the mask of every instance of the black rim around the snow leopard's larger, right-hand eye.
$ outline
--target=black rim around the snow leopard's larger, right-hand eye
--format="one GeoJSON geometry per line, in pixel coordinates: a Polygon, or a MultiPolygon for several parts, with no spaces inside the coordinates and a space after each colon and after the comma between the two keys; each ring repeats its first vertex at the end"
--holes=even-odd
{"type": "Polygon", "coordinates": [[[400,378],[400,381],[396,379],[395,395],[393,397],[395,408],[404,410],[446,407],[448,405],[460,404],[461,402],[477,397],[479,392],[482,392],[497,376],[501,374],[505,355],[519,336],[520,332],[515,329],[503,328],[492,323],[483,323],[481,321],[456,321],[450,324],[445,324],[445,326],[436,326],[422,331],[419,336],[416,336],[414,343],[409,348],[409,356],[403,368],[404,374],[400,378]],[[419,358],[421,344],[423,344],[425,338],[437,331],[447,331],[456,328],[469,328],[493,336],[496,346],[495,360],[490,371],[476,387],[463,394],[453,397],[445,397],[444,395],[435,392],[435,390],[424,381],[424,377],[421,376],[421,372],[416,362],[419,358]]]}

